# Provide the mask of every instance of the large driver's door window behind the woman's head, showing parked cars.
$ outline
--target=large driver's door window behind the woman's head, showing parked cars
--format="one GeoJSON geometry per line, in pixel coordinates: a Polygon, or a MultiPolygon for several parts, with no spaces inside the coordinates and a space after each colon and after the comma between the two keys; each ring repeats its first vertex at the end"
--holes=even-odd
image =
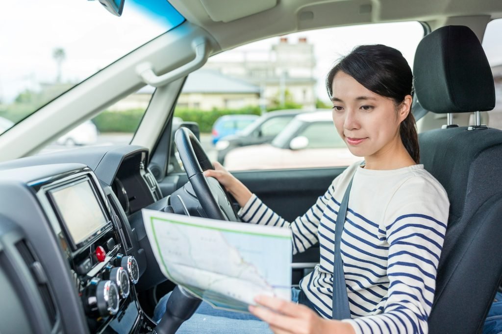
{"type": "MultiPolygon", "coordinates": [[[[266,154],[264,148],[288,146],[291,138],[283,131],[292,130],[288,124],[296,114],[331,108],[325,78],[338,58],[358,45],[385,44],[400,50],[413,68],[415,50],[423,36],[420,23],[399,22],[319,29],[249,43],[211,57],[202,68],[191,73],[179,96],[175,116],[199,125],[202,147],[211,160],[224,165],[229,158],[238,160],[238,165],[233,164],[236,170],[262,168],[252,160],[246,167],[248,157],[266,154]],[[216,119],[224,115],[272,112],[292,115],[271,117],[267,121],[261,118],[231,139],[222,139],[223,131],[214,127],[216,119]],[[257,150],[248,154],[246,149],[253,147],[257,150]]],[[[311,137],[310,145],[322,147],[325,138],[315,132],[306,132],[311,137]]],[[[335,142],[336,135],[333,126],[327,136],[335,142]]],[[[304,159],[299,157],[300,151],[309,155],[311,149],[291,152],[283,148],[281,153],[272,152],[268,160],[281,159],[284,163],[272,161],[264,164],[264,168],[296,168],[295,159],[304,159]],[[295,153],[291,159],[289,153],[295,153]]],[[[347,164],[348,153],[342,150],[343,147],[333,153],[336,156],[330,166],[347,164]]],[[[317,158],[308,157],[312,166],[328,166],[317,158]]]]}

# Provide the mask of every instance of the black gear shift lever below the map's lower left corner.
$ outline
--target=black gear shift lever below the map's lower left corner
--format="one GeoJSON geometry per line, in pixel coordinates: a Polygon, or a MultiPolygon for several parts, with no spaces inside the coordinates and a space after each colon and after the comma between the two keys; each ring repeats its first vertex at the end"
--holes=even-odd
{"type": "Polygon", "coordinates": [[[195,313],[201,301],[177,285],[169,296],[166,313],[159,321],[154,334],[174,334],[181,324],[195,313]]]}

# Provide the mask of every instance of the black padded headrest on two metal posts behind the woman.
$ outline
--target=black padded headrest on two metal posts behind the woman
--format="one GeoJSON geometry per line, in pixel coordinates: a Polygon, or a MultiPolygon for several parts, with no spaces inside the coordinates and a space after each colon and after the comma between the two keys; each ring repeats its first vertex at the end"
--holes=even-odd
{"type": "Polygon", "coordinates": [[[435,113],[487,111],[495,106],[491,69],[476,35],[446,26],[420,41],[413,66],[415,94],[435,113]]]}

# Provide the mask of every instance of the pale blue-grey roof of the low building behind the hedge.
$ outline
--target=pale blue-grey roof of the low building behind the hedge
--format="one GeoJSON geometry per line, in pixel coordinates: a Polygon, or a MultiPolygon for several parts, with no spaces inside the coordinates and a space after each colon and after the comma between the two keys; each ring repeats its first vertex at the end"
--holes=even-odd
{"type": "MultiPolygon", "coordinates": [[[[138,94],[152,94],[154,87],[145,86],[138,94]]],[[[182,93],[260,94],[260,87],[244,80],[231,78],[214,70],[190,73],[182,93]]]]}

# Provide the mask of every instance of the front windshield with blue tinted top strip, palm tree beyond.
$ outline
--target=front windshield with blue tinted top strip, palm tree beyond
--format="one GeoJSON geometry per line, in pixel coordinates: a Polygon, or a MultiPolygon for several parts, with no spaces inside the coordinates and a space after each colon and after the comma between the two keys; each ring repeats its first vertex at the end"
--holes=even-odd
{"type": "Polygon", "coordinates": [[[121,17],[98,1],[3,1],[0,117],[14,125],[184,20],[166,0],[127,0],[121,17]]]}

